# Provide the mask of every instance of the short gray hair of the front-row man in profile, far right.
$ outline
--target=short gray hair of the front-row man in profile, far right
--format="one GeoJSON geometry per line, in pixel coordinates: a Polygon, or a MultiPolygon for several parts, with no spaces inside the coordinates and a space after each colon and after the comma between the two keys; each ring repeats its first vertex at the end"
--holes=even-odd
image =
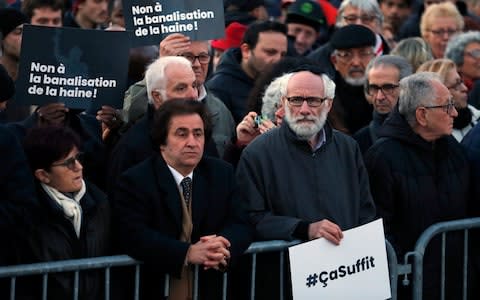
{"type": "Polygon", "coordinates": [[[433,72],[419,72],[400,80],[398,111],[411,127],[417,124],[416,110],[420,106],[433,105],[438,97],[433,82],[442,83],[440,76],[433,72]]]}

